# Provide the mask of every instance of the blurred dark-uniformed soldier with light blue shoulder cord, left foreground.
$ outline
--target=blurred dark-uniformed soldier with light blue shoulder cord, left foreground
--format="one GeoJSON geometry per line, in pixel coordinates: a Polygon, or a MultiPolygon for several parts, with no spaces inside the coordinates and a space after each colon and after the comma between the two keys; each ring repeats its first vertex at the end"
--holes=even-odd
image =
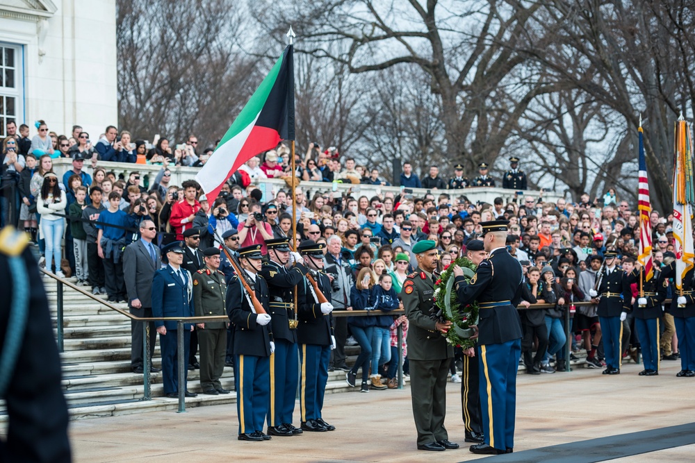
{"type": "Polygon", "coordinates": [[[28,242],[27,233],[9,226],[0,232],[0,398],[9,430],[0,439],[0,461],[69,463],[60,357],[28,242]]]}

